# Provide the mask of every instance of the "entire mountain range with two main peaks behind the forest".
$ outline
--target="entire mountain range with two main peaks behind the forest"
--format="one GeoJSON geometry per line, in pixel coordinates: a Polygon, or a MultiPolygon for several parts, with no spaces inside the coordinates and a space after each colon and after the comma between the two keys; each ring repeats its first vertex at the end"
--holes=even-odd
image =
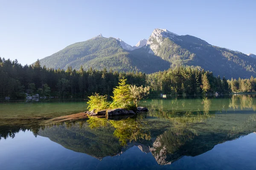
{"type": "Polygon", "coordinates": [[[212,71],[215,76],[237,79],[256,76],[253,56],[211,45],[191,35],[178,35],[156,28],[148,40],[140,40],[135,46],[119,38],[105,38],[100,34],[69,45],[40,62],[55,69],[67,69],[68,66],[79,69],[82,65],[84,69],[112,68],[145,73],[183,65],[212,71]]]}

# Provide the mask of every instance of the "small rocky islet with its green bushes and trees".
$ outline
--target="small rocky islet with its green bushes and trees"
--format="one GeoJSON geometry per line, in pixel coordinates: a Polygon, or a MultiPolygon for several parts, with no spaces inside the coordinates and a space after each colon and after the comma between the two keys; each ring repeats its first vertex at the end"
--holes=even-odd
{"type": "Polygon", "coordinates": [[[108,96],[101,96],[97,93],[89,96],[88,109],[86,111],[88,116],[118,116],[118,115],[134,115],[137,112],[147,112],[148,109],[140,107],[141,99],[149,94],[150,88],[148,86],[137,87],[136,85],[126,84],[127,79],[122,77],[119,80],[119,85],[113,88],[112,102],[108,102],[108,96]]]}

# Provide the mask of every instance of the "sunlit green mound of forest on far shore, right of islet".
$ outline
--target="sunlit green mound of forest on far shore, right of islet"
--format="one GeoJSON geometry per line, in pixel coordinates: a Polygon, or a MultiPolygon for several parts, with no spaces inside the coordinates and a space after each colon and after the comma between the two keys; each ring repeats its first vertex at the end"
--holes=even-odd
{"type": "Polygon", "coordinates": [[[222,81],[212,72],[193,67],[175,67],[147,76],[151,92],[157,94],[228,93],[229,87],[223,86],[222,81]]]}

